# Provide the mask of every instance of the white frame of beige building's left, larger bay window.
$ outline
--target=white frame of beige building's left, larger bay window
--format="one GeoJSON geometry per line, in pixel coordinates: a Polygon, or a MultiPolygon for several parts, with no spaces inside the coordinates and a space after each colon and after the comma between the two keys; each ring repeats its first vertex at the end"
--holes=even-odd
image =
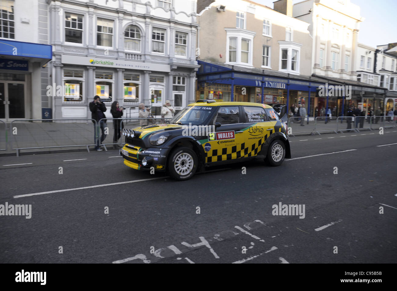
{"type": "Polygon", "coordinates": [[[226,31],[226,64],[239,65],[243,67],[252,67],[252,56],[253,56],[253,43],[254,31],[247,31],[239,28],[225,28],[226,31]],[[236,61],[229,62],[229,44],[230,39],[237,39],[236,45],[236,61]],[[241,40],[245,39],[249,41],[249,54],[248,54],[248,64],[241,62],[241,40]]]}

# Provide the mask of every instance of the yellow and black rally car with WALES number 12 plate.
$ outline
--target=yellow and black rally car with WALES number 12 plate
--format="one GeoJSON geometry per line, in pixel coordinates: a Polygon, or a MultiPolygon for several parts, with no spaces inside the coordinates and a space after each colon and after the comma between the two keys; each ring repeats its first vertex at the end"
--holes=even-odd
{"type": "Polygon", "coordinates": [[[265,104],[198,100],[169,123],[123,129],[120,155],[130,168],[168,171],[176,180],[187,180],[206,166],[254,156],[279,166],[291,158],[281,114],[265,104]]]}

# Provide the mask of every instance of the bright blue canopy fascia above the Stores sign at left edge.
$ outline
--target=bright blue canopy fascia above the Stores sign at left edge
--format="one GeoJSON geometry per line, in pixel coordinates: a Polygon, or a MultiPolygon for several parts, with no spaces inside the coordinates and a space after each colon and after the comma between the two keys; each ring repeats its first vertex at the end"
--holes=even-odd
{"type": "Polygon", "coordinates": [[[39,62],[43,66],[52,58],[52,46],[0,39],[0,58],[28,59],[31,62],[39,62]]]}

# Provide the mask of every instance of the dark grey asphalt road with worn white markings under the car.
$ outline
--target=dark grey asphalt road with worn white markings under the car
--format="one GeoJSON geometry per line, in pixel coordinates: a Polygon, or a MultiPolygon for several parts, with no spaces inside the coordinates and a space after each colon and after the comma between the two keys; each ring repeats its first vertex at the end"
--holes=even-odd
{"type": "Polygon", "coordinates": [[[395,263],[397,130],[290,141],[279,167],[183,182],[116,150],[2,157],[0,204],[32,206],[0,216],[0,263],[395,263]],[[273,215],[279,202],[304,208],[273,215]]]}

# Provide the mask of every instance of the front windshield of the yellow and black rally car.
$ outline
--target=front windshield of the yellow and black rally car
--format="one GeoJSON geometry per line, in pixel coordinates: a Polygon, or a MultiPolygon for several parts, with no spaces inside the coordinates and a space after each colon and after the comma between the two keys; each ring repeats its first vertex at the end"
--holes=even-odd
{"type": "Polygon", "coordinates": [[[213,112],[217,111],[218,106],[187,106],[175,115],[170,123],[181,125],[207,125],[213,112]]]}

